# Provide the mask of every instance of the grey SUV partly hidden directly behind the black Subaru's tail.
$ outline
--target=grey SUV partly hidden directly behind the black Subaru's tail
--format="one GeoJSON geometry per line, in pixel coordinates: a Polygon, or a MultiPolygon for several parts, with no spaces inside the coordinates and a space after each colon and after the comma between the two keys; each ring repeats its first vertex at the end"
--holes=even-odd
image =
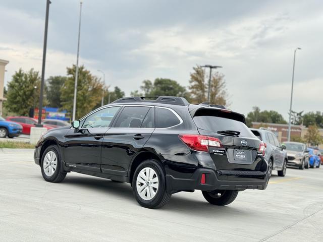
{"type": "Polygon", "coordinates": [[[268,162],[270,176],[273,170],[277,170],[279,176],[285,176],[288,162],[286,146],[281,145],[276,135],[270,130],[260,128],[251,129],[251,132],[264,142],[266,148],[264,157],[268,162]]]}

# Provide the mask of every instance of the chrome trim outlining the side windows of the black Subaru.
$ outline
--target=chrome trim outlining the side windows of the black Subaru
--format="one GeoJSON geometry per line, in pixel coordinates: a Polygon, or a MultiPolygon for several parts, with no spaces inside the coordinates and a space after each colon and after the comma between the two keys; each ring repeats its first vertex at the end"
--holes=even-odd
{"type": "MultiPolygon", "coordinates": [[[[164,108],[164,109],[168,109],[170,110],[171,112],[174,113],[174,115],[179,119],[180,123],[177,124],[177,125],[173,125],[173,126],[170,126],[170,127],[166,127],[166,128],[117,128],[117,127],[108,127],[108,129],[157,129],[157,130],[160,130],[160,129],[169,129],[169,128],[173,128],[173,127],[176,127],[178,125],[181,125],[183,124],[183,119],[181,118],[181,116],[175,111],[173,110],[172,108],[169,108],[169,107],[161,107],[161,106],[153,106],[153,105],[136,105],[136,104],[124,104],[124,105],[112,105],[112,106],[103,106],[99,109],[96,109],[96,110],[93,110],[92,112],[88,113],[87,115],[83,116],[79,121],[82,122],[83,119],[87,118],[89,115],[95,113],[95,112],[98,112],[104,108],[110,108],[110,107],[126,107],[126,106],[130,106],[130,107],[154,107],[154,108],[164,108]]],[[[155,115],[154,115],[155,117],[155,115]]],[[[74,129],[73,127],[71,127],[71,129],[74,129]]],[[[81,128],[82,129],[82,128],[81,128]]],[[[91,127],[87,128],[87,129],[91,129],[91,127]]],[[[107,128],[93,128],[93,129],[107,129],[107,128]]]]}

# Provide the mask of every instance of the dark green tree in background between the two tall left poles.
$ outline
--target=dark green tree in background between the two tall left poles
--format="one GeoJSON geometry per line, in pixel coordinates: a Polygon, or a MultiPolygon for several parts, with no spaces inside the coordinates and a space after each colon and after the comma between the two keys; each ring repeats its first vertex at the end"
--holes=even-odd
{"type": "Polygon", "coordinates": [[[47,100],[50,107],[62,107],[61,89],[64,86],[67,77],[54,76],[47,79],[47,100]]]}

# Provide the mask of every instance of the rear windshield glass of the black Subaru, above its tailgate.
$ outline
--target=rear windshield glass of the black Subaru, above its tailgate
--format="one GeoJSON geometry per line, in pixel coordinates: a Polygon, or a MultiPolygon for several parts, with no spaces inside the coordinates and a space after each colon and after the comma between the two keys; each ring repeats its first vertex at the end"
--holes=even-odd
{"type": "Polygon", "coordinates": [[[194,116],[194,123],[203,130],[212,132],[231,130],[240,132],[240,137],[255,137],[249,128],[242,122],[218,116],[194,116]]]}

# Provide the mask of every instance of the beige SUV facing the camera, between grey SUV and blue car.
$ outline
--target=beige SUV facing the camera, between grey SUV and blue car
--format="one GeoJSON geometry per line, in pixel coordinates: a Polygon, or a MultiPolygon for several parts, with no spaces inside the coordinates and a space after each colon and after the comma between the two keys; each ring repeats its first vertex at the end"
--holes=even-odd
{"type": "Polygon", "coordinates": [[[309,168],[308,150],[305,144],[300,142],[284,142],[286,146],[288,162],[287,165],[297,166],[299,169],[309,168]]]}

